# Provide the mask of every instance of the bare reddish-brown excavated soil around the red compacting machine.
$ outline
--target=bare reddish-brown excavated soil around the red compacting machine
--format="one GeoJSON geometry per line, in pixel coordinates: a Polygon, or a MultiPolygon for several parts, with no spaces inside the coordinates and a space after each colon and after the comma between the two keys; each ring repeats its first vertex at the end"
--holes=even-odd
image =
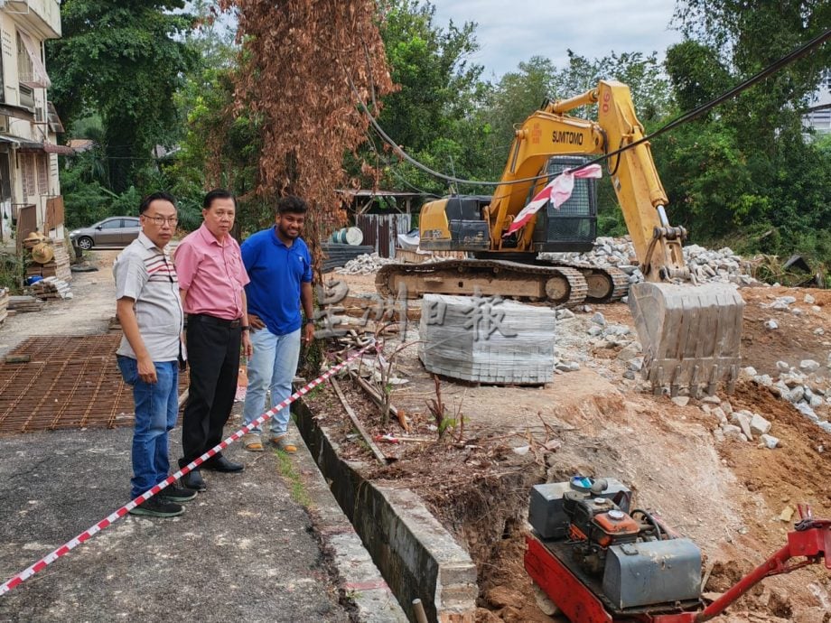
{"type": "MultiPolygon", "coordinates": [[[[371,276],[345,279],[350,293],[372,292],[371,276]]],[[[754,288],[742,290],[742,296],[747,303],[744,366],[775,378],[777,361],[798,367],[810,358],[822,364],[817,377],[831,375],[825,367],[831,341],[817,331],[831,339],[826,312],[831,293],[754,288]],[[815,303],[802,302],[808,292],[815,303]],[[798,299],[791,307],[800,308],[801,315],[765,307],[787,294],[798,299]],[[766,329],[769,319],[780,329],[766,329]]],[[[625,305],[597,310],[607,321],[631,326],[625,305]]],[[[567,479],[574,473],[621,479],[635,490],[640,507],[657,510],[704,550],[707,564],[714,568],[706,587],[711,592],[725,590],[785,544],[792,525],[780,521],[786,507],[808,502],[815,516],[831,516],[831,488],[826,482],[831,435],[744,377],[735,395],[720,397],[735,409],[769,419],[771,433],[782,447],[771,451],[755,442],[718,443],[712,433],[718,424],[700,408],[702,403],[691,400],[678,406],[666,396],[651,395],[640,380],[622,377],[625,367],[616,358],[620,349],[592,350],[586,335],[591,316],[578,313],[557,330],[558,346],[570,358],[584,360],[580,370],[557,375],[541,388],[474,386],[442,379],[448,414],[457,424],[464,416],[459,436],[463,443],[448,445],[445,439],[384,447],[399,459],[378,469],[375,478],[418,490],[479,565],[481,620],[550,620],[534,604],[522,568],[528,488],[534,482],[567,479]],[[546,450],[547,440],[559,442],[558,449],[546,450]],[[522,446],[530,447],[522,456],[512,450],[522,446]]],[[[416,347],[402,350],[396,363],[397,376],[408,383],[392,389],[393,404],[406,413],[416,435],[435,437],[426,406],[435,398],[434,381],[418,360],[416,347]]],[[[825,383],[817,378],[815,386],[825,383]]],[[[374,433],[400,434],[396,423],[381,425],[378,409],[359,390],[350,391],[350,402],[358,405],[374,433]]],[[[337,405],[332,405],[329,413],[336,411],[337,405]]],[[[817,414],[826,417],[827,406],[819,407],[817,414]]],[[[458,426],[448,434],[457,433],[458,426]]],[[[352,447],[361,452],[358,444],[352,447]]],[[[717,620],[827,623],[831,576],[814,566],[769,579],[717,620]]]]}

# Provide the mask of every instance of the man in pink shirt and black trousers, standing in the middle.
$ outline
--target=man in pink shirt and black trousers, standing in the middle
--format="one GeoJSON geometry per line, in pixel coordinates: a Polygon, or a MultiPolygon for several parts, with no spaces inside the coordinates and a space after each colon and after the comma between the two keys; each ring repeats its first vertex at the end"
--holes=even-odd
{"type": "MultiPolygon", "coordinates": [[[[248,275],[237,241],[230,236],[237,201],[229,191],[214,190],[202,202],[201,228],[176,248],[182,306],[188,314],[187,346],[191,385],[182,417],[184,467],[222,441],[239,374],[240,344],[253,353],[248,337],[245,285],[248,275]]],[[[206,470],[242,471],[221,453],[202,463],[206,470]]],[[[200,470],[192,470],[182,486],[206,489],[200,470]]]]}

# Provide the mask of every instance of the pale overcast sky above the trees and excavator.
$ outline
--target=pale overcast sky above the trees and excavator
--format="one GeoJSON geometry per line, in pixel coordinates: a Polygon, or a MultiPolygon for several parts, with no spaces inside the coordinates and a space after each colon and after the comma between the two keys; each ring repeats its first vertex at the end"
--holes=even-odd
{"type": "Polygon", "coordinates": [[[681,41],[669,30],[675,0],[432,0],[435,24],[476,22],[472,60],[499,78],[532,56],[565,67],[566,50],[588,59],[612,51],[663,52],[681,41]]]}

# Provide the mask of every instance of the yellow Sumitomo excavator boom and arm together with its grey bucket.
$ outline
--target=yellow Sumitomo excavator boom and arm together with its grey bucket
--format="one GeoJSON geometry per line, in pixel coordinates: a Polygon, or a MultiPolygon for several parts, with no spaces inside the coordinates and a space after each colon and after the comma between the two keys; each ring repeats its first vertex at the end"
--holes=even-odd
{"type": "MultiPolygon", "coordinates": [[[[517,130],[503,183],[490,203],[491,246],[503,249],[502,234],[527,204],[529,191],[546,183],[528,178],[545,171],[548,158],[614,153],[606,167],[645,279],[629,295],[646,356],[645,375],[657,393],[669,386],[677,395],[681,386],[689,386],[697,395],[704,386],[712,394],[724,379],[732,391],[741,363],[744,302],[733,286],[695,284],[681,246],[686,230],[669,224],[667,193],[643,137],[629,88],[614,80],[602,80],[583,95],[549,103],[529,116],[517,130]],[[595,103],[596,123],[566,114],[595,103]],[[634,146],[615,153],[628,145],[634,146]]],[[[533,221],[521,230],[517,250],[530,248],[533,230],[533,221]]]]}

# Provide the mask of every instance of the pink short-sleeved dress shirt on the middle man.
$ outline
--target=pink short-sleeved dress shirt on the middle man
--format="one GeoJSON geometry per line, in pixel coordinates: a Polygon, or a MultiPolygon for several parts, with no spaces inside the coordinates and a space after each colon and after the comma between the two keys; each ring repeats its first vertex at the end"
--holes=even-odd
{"type": "Polygon", "coordinates": [[[202,223],[179,243],[173,261],[179,287],[187,291],[185,312],[227,321],[242,317],[243,288],[249,279],[233,237],[225,237],[220,245],[202,223]]]}

